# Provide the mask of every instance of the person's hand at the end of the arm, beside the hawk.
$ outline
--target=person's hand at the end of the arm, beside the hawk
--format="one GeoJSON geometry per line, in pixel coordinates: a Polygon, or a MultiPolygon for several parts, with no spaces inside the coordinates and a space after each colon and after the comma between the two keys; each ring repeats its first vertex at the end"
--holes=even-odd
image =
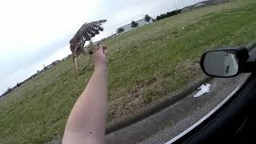
{"type": "Polygon", "coordinates": [[[106,70],[106,46],[99,45],[94,53],[94,70],[106,70]]]}

